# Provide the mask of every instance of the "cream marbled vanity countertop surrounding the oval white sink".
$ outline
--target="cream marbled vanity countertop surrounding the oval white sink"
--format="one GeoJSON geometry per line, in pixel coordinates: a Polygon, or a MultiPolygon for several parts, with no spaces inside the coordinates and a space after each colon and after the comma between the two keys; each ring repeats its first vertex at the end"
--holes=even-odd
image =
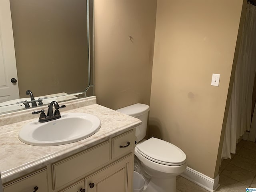
{"type": "Polygon", "coordinates": [[[38,117],[0,126],[0,170],[2,183],[9,182],[38,170],[47,164],[90,148],[141,124],[141,121],[136,118],[98,104],[64,111],[62,114],[69,112],[83,112],[97,116],[102,124],[100,130],[89,138],[78,142],[42,147],[24,144],[18,139],[20,129],[38,117]]]}

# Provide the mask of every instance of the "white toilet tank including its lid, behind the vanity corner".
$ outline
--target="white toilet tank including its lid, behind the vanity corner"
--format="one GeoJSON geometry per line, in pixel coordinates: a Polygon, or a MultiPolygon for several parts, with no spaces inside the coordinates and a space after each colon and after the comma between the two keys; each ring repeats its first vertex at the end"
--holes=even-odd
{"type": "Polygon", "coordinates": [[[136,137],[138,138],[138,142],[146,136],[149,111],[148,105],[136,103],[134,105],[120,108],[116,111],[138,118],[142,121],[142,125],[136,127],[135,131],[136,137]]]}

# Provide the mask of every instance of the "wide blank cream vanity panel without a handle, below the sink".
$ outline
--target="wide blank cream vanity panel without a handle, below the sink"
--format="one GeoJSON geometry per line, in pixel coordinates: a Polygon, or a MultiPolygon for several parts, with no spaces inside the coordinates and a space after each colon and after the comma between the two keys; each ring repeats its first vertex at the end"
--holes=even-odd
{"type": "Polygon", "coordinates": [[[109,160],[110,141],[108,140],[98,146],[52,164],[54,189],[58,189],[84,176],[88,172],[106,164],[109,160]]]}

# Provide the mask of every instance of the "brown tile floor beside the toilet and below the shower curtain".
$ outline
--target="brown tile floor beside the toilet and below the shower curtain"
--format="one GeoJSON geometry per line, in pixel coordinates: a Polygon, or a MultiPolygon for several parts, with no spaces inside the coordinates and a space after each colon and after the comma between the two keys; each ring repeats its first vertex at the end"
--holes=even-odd
{"type": "MultiPolygon", "coordinates": [[[[236,154],[223,160],[219,170],[220,187],[216,192],[245,192],[256,188],[256,142],[241,140],[236,145],[236,154]]],[[[177,177],[177,192],[207,192],[204,188],[177,177]]]]}

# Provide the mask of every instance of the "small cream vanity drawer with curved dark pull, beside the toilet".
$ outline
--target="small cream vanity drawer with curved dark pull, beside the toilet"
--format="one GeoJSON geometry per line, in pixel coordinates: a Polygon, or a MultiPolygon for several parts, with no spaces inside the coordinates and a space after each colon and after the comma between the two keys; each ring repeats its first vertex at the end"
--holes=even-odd
{"type": "Polygon", "coordinates": [[[112,139],[112,158],[115,159],[134,150],[135,130],[130,130],[112,139]]]}

